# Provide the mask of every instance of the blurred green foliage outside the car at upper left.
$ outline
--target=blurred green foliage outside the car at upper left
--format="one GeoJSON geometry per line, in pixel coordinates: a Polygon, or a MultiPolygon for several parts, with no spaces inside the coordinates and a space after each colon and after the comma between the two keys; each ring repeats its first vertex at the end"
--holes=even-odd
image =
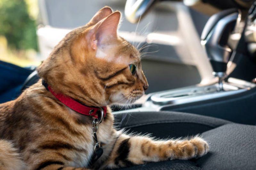
{"type": "Polygon", "coordinates": [[[36,22],[24,0],[0,0],[0,35],[9,48],[37,50],[36,22]]]}

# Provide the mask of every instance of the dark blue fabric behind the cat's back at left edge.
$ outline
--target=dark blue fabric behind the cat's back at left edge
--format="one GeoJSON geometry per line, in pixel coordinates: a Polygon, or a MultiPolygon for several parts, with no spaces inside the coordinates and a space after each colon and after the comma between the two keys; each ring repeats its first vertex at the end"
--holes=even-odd
{"type": "Polygon", "coordinates": [[[0,103],[13,100],[21,94],[21,87],[33,70],[0,61],[0,103]]]}

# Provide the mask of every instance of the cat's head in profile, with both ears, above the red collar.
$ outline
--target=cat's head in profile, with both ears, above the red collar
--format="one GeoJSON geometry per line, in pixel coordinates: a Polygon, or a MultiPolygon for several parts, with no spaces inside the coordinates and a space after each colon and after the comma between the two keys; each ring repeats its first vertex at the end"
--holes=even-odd
{"type": "Polygon", "coordinates": [[[148,87],[140,53],[117,34],[121,13],[104,7],[68,33],[38,67],[56,92],[87,105],[133,102],[148,87]]]}

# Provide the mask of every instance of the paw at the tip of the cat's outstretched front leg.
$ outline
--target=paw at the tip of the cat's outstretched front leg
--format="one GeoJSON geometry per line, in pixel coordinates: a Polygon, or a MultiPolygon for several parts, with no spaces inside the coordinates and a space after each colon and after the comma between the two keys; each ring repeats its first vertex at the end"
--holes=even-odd
{"type": "Polygon", "coordinates": [[[192,159],[199,158],[209,151],[209,145],[201,137],[194,137],[190,140],[176,142],[173,149],[174,159],[192,159]]]}

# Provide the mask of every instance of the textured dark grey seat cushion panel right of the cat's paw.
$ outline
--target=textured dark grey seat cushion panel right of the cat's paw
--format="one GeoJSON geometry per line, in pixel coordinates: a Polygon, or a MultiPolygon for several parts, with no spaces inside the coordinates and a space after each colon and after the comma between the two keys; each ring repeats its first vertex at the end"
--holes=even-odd
{"type": "Polygon", "coordinates": [[[226,124],[202,133],[210,153],[197,160],[203,169],[255,169],[256,126],[226,124]]]}

